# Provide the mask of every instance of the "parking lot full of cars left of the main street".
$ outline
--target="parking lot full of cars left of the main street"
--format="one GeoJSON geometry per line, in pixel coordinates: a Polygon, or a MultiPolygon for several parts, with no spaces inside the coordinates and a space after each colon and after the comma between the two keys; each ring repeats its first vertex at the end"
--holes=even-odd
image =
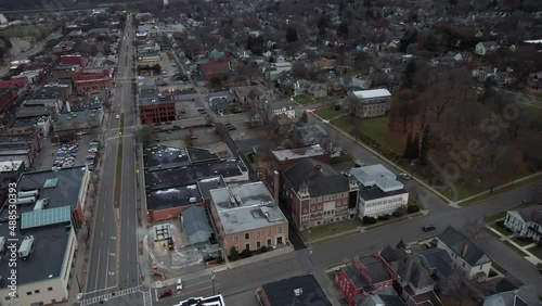
{"type": "Polygon", "coordinates": [[[95,144],[91,145],[91,140],[92,136],[89,135],[79,136],[79,139],[69,143],[52,143],[51,138],[40,139],[41,151],[36,157],[34,169],[51,170],[90,165],[91,160],[87,157],[98,155],[99,151],[95,144]]]}

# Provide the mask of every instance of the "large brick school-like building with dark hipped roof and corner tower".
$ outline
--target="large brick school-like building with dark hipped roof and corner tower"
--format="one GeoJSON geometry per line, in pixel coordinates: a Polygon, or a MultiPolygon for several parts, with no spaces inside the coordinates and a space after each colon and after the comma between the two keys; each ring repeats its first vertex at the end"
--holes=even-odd
{"type": "MultiPolygon", "coordinates": [[[[281,193],[288,199],[299,230],[356,217],[358,184],[312,158],[300,160],[282,174],[281,193]]],[[[276,187],[275,187],[276,188],[276,187]]]]}

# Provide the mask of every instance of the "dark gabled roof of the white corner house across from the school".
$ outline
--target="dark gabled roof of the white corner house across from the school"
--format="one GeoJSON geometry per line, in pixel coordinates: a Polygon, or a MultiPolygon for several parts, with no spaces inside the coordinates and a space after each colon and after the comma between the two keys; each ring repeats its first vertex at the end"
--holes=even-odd
{"type": "Polygon", "coordinates": [[[481,251],[478,245],[451,226],[446,228],[446,230],[438,237],[438,240],[446,244],[453,251],[453,253],[463,258],[463,260],[472,267],[491,262],[491,258],[483,251],[481,251]]]}

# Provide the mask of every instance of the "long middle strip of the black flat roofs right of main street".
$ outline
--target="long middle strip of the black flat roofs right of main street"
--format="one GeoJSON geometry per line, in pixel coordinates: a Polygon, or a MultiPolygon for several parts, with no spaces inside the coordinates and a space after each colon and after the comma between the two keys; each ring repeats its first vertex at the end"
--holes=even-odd
{"type": "Polygon", "coordinates": [[[216,161],[166,170],[147,171],[145,174],[145,188],[149,192],[150,190],[195,184],[198,179],[203,178],[234,177],[242,174],[236,161],[216,161]]]}

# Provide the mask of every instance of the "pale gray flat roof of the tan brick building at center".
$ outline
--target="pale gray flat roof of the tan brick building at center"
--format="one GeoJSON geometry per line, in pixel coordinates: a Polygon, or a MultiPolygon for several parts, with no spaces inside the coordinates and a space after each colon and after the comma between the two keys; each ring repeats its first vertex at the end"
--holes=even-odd
{"type": "Polygon", "coordinates": [[[227,234],[287,224],[261,181],[215,189],[210,197],[227,234]]]}

